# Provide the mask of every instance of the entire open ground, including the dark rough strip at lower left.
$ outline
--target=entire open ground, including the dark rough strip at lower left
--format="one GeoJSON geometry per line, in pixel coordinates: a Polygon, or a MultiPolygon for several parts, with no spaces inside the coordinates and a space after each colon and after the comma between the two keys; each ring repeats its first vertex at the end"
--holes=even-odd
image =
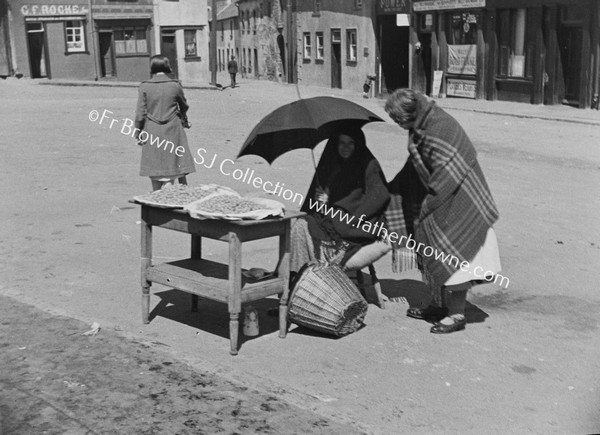
{"type": "MultiPolygon", "coordinates": [[[[420,277],[394,274],[384,258],[378,276],[397,302],[370,304],[365,328],[334,339],[293,326],[282,340],[267,315],[277,300],[267,298],[255,305],[260,335],[242,337],[231,357],[222,304],[203,301],[191,313],[187,295],[153,286],[152,320],[141,324],[139,209],[128,200],[149,182],[136,176],[135,142],[88,119],[102,109],[131,117],[135,88],[38,83],[0,82],[5,433],[600,432],[597,111],[499,103],[491,114],[484,110],[496,102],[439,100],[465,105],[448,111],[478,149],[511,279],[509,288],[471,292],[465,331],[433,336],[408,319],[408,305],[424,302],[420,277]],[[539,112],[520,116],[530,110],[539,112]],[[584,122],[556,121],[553,110],[584,122]],[[100,331],[82,335],[93,322],[100,331]]],[[[343,96],[385,117],[384,101],[360,92],[242,79],[236,89],[186,90],[192,151],[235,158],[256,122],[298,94],[343,96]]],[[[390,178],[406,159],[405,134],[391,122],[364,130],[390,178]]],[[[312,177],[303,151],[235,165],[294,192],[312,177]]],[[[257,193],[216,168],[197,169],[190,184],[257,193]]],[[[156,261],[189,254],[180,234],[156,231],[154,242],[156,261]]],[[[272,267],[271,242],[252,242],[243,266],[272,267]]],[[[210,241],[203,255],[227,258],[210,241]]]]}

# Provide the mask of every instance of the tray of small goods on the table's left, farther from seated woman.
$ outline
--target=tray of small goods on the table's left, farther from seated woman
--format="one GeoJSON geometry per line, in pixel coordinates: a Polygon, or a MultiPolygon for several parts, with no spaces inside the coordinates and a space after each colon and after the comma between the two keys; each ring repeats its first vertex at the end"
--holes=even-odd
{"type": "Polygon", "coordinates": [[[187,184],[174,184],[163,187],[145,195],[134,196],[136,202],[161,208],[183,208],[186,204],[198,201],[213,193],[233,192],[228,187],[216,184],[188,186],[187,184]]]}

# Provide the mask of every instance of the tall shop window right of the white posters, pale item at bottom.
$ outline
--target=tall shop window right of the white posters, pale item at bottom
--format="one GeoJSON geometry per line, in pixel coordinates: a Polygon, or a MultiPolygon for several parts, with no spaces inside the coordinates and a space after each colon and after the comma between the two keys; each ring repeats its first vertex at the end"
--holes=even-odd
{"type": "Polygon", "coordinates": [[[528,34],[527,9],[504,9],[498,20],[499,59],[498,76],[504,78],[532,78],[535,45],[528,34]]]}

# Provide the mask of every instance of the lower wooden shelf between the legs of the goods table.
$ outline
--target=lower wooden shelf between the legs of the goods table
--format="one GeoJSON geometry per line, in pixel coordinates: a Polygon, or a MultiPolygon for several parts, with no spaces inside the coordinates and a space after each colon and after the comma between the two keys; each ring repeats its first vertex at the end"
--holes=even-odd
{"type": "MultiPolygon", "coordinates": [[[[188,258],[153,265],[146,270],[146,279],[220,302],[228,302],[231,291],[229,266],[210,260],[188,258]]],[[[288,284],[279,277],[249,282],[243,275],[241,283],[242,303],[283,293],[288,284]]]]}

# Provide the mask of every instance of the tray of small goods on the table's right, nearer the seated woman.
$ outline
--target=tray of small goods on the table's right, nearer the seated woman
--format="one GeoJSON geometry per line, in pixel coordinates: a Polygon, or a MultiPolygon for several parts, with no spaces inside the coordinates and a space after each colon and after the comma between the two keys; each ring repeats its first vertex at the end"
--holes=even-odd
{"type": "Polygon", "coordinates": [[[242,198],[233,191],[222,191],[206,196],[184,207],[196,219],[265,219],[283,216],[284,206],[267,198],[242,198]]]}

